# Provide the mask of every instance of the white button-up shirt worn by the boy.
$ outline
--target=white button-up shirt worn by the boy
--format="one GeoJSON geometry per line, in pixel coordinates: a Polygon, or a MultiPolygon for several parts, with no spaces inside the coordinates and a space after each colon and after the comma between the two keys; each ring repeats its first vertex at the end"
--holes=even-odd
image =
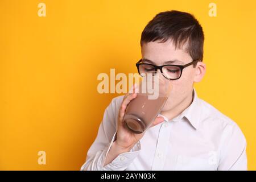
{"type": "Polygon", "coordinates": [[[161,115],[164,122],[104,166],[123,96],[113,98],[81,170],[247,170],[246,140],[240,128],[193,92],[192,104],[180,115],[170,121],[161,115]]]}

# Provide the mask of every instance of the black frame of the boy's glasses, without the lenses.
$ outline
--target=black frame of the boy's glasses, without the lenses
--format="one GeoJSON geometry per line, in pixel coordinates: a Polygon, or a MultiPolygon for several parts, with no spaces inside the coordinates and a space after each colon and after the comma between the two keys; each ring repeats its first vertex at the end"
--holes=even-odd
{"type": "MultiPolygon", "coordinates": [[[[140,60],[136,63],[136,67],[137,67],[137,70],[138,70],[139,75],[141,75],[141,73],[139,72],[139,65],[151,65],[152,67],[155,68],[155,72],[158,71],[158,69],[160,69],[161,73],[163,73],[163,71],[162,71],[162,68],[163,68],[163,67],[166,67],[166,66],[174,66],[174,67],[179,67],[179,68],[180,68],[180,76],[179,76],[179,78],[180,78],[181,75],[182,75],[182,71],[183,71],[183,69],[184,69],[185,67],[188,67],[189,65],[192,65],[192,64],[197,63],[197,61],[200,61],[200,59],[193,60],[193,61],[191,61],[190,63],[185,64],[185,65],[166,64],[166,65],[162,65],[162,66],[157,66],[157,65],[149,64],[149,63],[141,63],[141,61],[142,61],[142,59],[140,59],[140,60]]],[[[163,73],[163,74],[164,74],[164,73],[163,73]]],[[[177,79],[179,79],[179,78],[174,78],[174,79],[168,78],[168,79],[169,79],[169,80],[177,80],[177,79]]]]}

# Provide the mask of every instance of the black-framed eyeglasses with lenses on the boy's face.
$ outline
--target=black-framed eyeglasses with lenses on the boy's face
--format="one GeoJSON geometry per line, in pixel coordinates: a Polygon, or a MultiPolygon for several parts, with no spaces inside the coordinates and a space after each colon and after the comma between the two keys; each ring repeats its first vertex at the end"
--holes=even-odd
{"type": "Polygon", "coordinates": [[[136,67],[138,69],[139,75],[142,73],[155,73],[158,69],[160,69],[161,73],[163,73],[164,76],[169,78],[170,80],[177,80],[181,77],[182,71],[185,67],[188,67],[189,65],[197,63],[198,60],[193,60],[191,63],[185,64],[185,65],[174,65],[174,64],[167,64],[162,66],[157,66],[154,64],[148,64],[148,63],[141,63],[142,59],[139,60],[136,63],[136,67]]]}

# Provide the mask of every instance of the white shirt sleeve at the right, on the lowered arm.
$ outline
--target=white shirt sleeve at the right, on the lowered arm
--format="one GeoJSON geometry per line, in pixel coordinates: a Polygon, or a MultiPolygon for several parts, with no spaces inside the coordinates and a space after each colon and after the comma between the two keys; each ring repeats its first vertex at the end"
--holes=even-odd
{"type": "Polygon", "coordinates": [[[218,170],[246,171],[246,139],[236,123],[226,126],[218,170]]]}

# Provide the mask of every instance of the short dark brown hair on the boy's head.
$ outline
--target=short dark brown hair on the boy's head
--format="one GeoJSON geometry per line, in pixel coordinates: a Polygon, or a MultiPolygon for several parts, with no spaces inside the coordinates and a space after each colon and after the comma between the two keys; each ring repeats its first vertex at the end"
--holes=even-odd
{"type": "Polygon", "coordinates": [[[171,39],[175,48],[183,47],[188,41],[187,52],[193,60],[203,61],[204,32],[198,20],[192,14],[181,11],[165,11],[157,14],[141,34],[143,43],[171,39]]]}

